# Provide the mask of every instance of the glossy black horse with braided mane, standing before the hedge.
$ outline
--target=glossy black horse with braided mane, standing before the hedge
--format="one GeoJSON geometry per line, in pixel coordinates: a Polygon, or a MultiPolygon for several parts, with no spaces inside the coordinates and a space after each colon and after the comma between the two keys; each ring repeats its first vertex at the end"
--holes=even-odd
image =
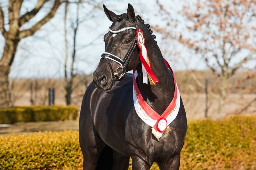
{"type": "Polygon", "coordinates": [[[135,170],[149,170],[153,162],[161,170],[179,169],[180,151],[187,132],[181,98],[178,115],[169,124],[171,131],[158,141],[151,132],[152,128],[140,119],[134,109],[133,78],[132,74],[126,75],[126,71],[136,68],[136,81],[143,99],[162,115],[174,97],[175,85],[155,36],[151,35],[149,25],[144,25],[144,21],[135,16],[132,5],[128,4],[127,13],[121,15],[109,11],[105,5],[103,7],[113,24],[104,36],[105,53],[82,102],[79,141],[84,155],[83,167],[90,170],[127,170],[131,157],[132,169],[135,170]],[[159,81],[156,85],[142,82],[139,48],[134,43],[135,27],[144,33],[151,68],[159,81]]]}

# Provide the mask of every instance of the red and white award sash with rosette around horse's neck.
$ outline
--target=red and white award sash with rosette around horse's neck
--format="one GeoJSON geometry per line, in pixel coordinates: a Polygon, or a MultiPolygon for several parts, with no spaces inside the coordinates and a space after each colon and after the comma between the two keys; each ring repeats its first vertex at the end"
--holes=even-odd
{"type": "Polygon", "coordinates": [[[143,122],[152,127],[152,133],[155,135],[158,141],[167,129],[169,129],[170,131],[168,125],[176,118],[180,109],[180,92],[178,89],[178,85],[176,83],[173,71],[169,63],[167,63],[166,60],[165,63],[169,70],[172,72],[175,90],[172,102],[161,116],[156,113],[156,111],[152,109],[143,99],[140,93],[140,89],[136,83],[136,77],[138,76],[137,71],[136,69],[133,70],[133,103],[135,111],[143,122]]]}

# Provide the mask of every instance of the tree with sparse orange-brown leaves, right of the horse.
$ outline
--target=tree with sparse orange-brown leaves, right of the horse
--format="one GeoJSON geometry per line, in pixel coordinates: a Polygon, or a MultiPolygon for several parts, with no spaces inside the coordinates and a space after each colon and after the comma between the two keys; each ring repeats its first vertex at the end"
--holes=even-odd
{"type": "MultiPolygon", "coordinates": [[[[166,27],[156,26],[155,29],[201,55],[209,69],[220,78],[219,95],[212,94],[212,97],[219,100],[219,113],[222,113],[228,78],[255,59],[255,0],[197,0],[194,4],[186,1],[179,11],[184,29],[177,29],[181,24],[179,19],[173,18],[169,9],[157,3],[167,22],[166,27]]],[[[193,78],[196,80],[195,76],[193,78]]]]}

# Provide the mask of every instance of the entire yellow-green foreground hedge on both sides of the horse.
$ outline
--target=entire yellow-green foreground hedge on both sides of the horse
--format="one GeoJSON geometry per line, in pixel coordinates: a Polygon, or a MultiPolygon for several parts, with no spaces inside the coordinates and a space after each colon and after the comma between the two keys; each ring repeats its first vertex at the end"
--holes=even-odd
{"type": "MultiPolygon", "coordinates": [[[[256,116],[188,122],[180,170],[256,169],[255,158],[256,116]]],[[[82,161],[77,131],[0,137],[0,169],[82,169],[82,161]]]]}

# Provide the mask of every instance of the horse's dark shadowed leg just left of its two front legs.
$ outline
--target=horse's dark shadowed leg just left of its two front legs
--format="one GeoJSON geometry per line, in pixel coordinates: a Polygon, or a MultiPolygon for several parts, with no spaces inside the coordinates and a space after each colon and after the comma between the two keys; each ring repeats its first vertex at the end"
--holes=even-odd
{"type": "Polygon", "coordinates": [[[130,157],[127,157],[119,152],[113,150],[113,166],[112,170],[127,170],[129,167],[130,157]]]}

